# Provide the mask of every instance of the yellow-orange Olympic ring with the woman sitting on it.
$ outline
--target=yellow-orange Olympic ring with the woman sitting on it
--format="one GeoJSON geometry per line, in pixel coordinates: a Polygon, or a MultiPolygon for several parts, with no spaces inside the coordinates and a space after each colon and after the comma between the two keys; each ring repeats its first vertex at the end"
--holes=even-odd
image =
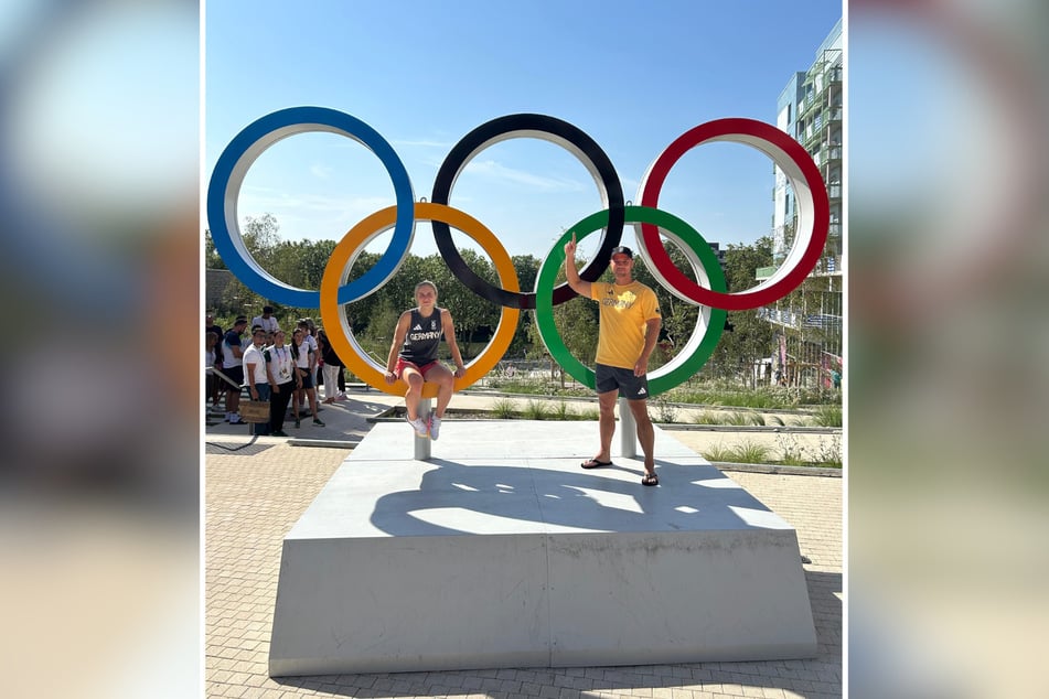
{"type": "MultiPolygon", "coordinates": [[[[477,218],[451,206],[419,202],[415,204],[415,219],[443,222],[477,240],[492,258],[495,271],[499,273],[500,283],[512,292],[520,290],[517,271],[514,269],[514,262],[510,258],[510,254],[506,252],[506,248],[499,241],[495,234],[485,228],[477,218]]],[[[340,304],[338,299],[339,284],[347,273],[356,254],[372,238],[393,228],[396,223],[397,207],[389,206],[361,221],[346,232],[346,235],[339,241],[328,260],[328,266],[324,267],[324,276],[321,278],[321,322],[328,330],[328,338],[331,341],[335,354],[345,362],[351,372],[368,386],[392,396],[404,396],[406,391],[404,383],[387,384],[386,367],[379,366],[368,358],[367,353],[357,344],[350,329],[350,322],[346,320],[346,307],[340,304]],[[341,333],[332,332],[333,325],[329,322],[329,319],[339,320],[339,326],[342,329],[341,333]]],[[[495,334],[481,354],[465,365],[467,370],[463,376],[456,379],[456,390],[472,386],[495,367],[506,350],[510,348],[520,318],[521,309],[502,307],[495,334]]],[[[424,398],[436,396],[437,386],[435,384],[426,384],[422,387],[424,398]]]]}

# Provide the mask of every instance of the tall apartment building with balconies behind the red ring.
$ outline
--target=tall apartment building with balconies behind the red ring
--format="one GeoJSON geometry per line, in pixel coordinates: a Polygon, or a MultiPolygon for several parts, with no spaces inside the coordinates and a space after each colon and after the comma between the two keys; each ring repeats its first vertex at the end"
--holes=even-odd
{"type": "MultiPolygon", "coordinates": [[[[771,357],[775,376],[791,385],[829,386],[842,367],[842,21],[816,50],[804,73],[794,73],[777,100],[777,126],[812,155],[827,187],[831,225],[827,244],[812,275],[775,307],[759,310],[779,326],[771,357]]],[[[794,241],[796,209],[786,176],[773,166],[772,256],[778,267],[794,241]]],[[[775,267],[758,270],[767,279],[775,267]]]]}

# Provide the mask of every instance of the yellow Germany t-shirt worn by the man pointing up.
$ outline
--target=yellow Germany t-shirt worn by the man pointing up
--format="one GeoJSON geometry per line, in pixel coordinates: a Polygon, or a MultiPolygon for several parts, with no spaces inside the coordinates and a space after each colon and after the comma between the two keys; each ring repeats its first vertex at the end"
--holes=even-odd
{"type": "Polygon", "coordinates": [[[597,363],[634,368],[644,348],[645,323],[662,319],[655,292],[640,281],[619,286],[590,284],[590,298],[600,304],[597,363]]]}

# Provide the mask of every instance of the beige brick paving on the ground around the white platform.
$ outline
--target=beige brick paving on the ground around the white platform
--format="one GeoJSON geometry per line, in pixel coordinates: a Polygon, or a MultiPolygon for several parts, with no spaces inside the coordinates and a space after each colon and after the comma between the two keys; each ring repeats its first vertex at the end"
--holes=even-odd
{"type": "Polygon", "coordinates": [[[253,440],[245,426],[207,428],[207,697],[842,696],[842,480],[741,472],[728,475],[796,528],[802,556],[811,561],[804,569],[820,643],[815,658],[271,679],[267,674],[269,634],[282,538],[351,451],[347,447],[298,447],[295,438],[329,439],[333,444],[361,439],[370,427],[368,415],[399,402],[374,390],[353,392],[349,401],[324,406],[321,418],[327,427],[308,426],[309,421],[298,430],[286,427],[290,442],[253,440]]]}

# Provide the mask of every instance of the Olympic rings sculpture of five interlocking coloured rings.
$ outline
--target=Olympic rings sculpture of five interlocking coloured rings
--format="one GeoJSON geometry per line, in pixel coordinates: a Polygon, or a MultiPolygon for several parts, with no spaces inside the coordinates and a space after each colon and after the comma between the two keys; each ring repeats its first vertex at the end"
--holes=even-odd
{"type": "MultiPolygon", "coordinates": [[[[593,372],[576,359],[565,346],[554,324],[553,307],[576,295],[567,283],[554,284],[564,262],[564,245],[575,233],[586,237],[604,228],[597,255],[579,275],[596,281],[608,268],[611,250],[619,245],[623,226],[634,225],[638,255],[661,284],[677,298],[703,307],[692,337],[668,364],[650,376],[650,392],[657,395],[695,374],[709,358],[721,335],[727,311],[767,305],[790,293],[815,268],[826,244],[829,204],[820,171],[809,153],[783,131],[752,119],[718,119],[683,133],[653,161],[638,193],[640,206],[627,205],[611,160],[577,127],[537,114],[500,117],[473,129],[449,152],[433,183],[431,202],[416,203],[407,171],[389,143],[372,127],[347,114],[323,107],[292,107],[267,115],[238,133],[222,152],[207,190],[207,219],[215,249],[229,270],[249,289],[277,303],[317,308],[328,336],[346,366],[370,386],[399,396],[404,389],[385,381],[384,367],[372,361],[357,344],[346,320],[345,304],[374,293],[393,277],[407,258],[416,221],[429,221],[437,247],[456,277],[472,292],[502,308],[492,340],[456,379],[460,390],[477,383],[502,358],[513,340],[522,309],[535,309],[539,335],[550,356],[574,378],[593,388],[593,372]],[[324,269],[319,290],[291,287],[264,270],[244,245],[237,222],[237,197],[247,171],[256,159],[277,141],[297,133],[327,131],[352,138],[383,162],[394,185],[396,204],[354,225],[335,246],[324,269]],[[539,268],[535,290],[522,292],[513,261],[499,238],[469,214],[448,205],[459,173],[483,149],[512,138],[540,138],[561,146],[582,162],[601,193],[602,211],[569,228],[555,244],[539,268]],[[703,143],[729,141],[760,150],[786,174],[798,201],[799,225],[786,259],[766,281],[753,289],[727,292],[721,268],[703,236],[687,223],[657,208],[660,191],[671,168],[688,150],[703,143]],[[472,237],[492,259],[501,288],[474,273],[456,248],[449,226],[472,237]],[[378,261],[356,279],[349,279],[353,262],[376,236],[393,227],[389,246],[378,261]],[[692,281],[671,261],[661,235],[684,250],[699,283],[692,281]],[[335,325],[341,333],[333,332],[335,325]]],[[[425,397],[437,395],[435,386],[425,397]]]]}

